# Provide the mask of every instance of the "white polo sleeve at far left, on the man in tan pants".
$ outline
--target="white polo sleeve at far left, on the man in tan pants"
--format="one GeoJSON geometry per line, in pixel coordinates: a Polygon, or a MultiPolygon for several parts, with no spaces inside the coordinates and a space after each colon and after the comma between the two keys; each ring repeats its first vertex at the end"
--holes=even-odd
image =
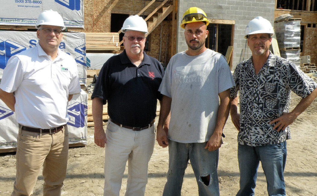
{"type": "Polygon", "coordinates": [[[23,64],[17,56],[12,56],[3,70],[0,88],[12,93],[20,86],[23,80],[23,64]]]}

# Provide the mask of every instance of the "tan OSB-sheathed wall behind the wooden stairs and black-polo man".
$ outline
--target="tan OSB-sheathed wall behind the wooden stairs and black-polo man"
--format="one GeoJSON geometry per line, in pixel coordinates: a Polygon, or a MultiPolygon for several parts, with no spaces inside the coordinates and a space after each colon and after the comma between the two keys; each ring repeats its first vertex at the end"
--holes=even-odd
{"type": "MultiPolygon", "coordinates": [[[[141,11],[148,3],[150,3],[148,0],[84,0],[85,27],[84,30],[78,31],[95,33],[113,32],[111,31],[111,14],[135,15],[138,14],[139,11],[141,11]]],[[[161,0],[157,0],[148,9],[146,9],[146,11],[141,14],[141,16],[149,15],[161,3],[161,0]]],[[[171,58],[171,21],[166,20],[161,24],[155,28],[151,34],[149,34],[149,51],[146,53],[154,58],[161,59],[161,62],[164,63],[165,61],[168,62],[171,58]],[[163,25],[162,34],[161,24],[163,25]],[[162,44],[160,44],[160,39],[162,39],[162,44]],[[166,43],[168,45],[167,52],[166,43]],[[159,58],[160,48],[161,58],[159,58]]]]}

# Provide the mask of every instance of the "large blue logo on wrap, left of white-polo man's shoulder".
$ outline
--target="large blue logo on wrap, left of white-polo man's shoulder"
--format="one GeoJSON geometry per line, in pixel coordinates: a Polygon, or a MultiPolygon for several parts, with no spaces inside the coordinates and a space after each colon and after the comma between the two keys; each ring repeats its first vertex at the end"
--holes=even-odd
{"type": "Polygon", "coordinates": [[[10,40],[0,40],[0,69],[4,69],[13,55],[26,50],[26,47],[10,40]]]}

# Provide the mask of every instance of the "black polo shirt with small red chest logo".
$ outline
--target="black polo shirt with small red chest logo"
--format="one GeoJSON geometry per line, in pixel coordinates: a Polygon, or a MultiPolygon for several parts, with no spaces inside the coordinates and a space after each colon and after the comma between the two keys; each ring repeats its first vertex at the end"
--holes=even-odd
{"type": "Polygon", "coordinates": [[[103,64],[91,96],[108,102],[108,115],[125,126],[142,127],[156,116],[158,91],[164,76],[159,61],[145,52],[139,67],[131,63],[126,50],[103,64]]]}

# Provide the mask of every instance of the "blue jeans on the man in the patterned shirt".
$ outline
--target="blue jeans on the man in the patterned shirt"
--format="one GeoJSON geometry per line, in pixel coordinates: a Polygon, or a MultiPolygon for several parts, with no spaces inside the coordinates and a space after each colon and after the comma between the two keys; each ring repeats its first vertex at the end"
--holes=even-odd
{"type": "Polygon", "coordinates": [[[280,144],[248,146],[238,144],[240,190],[237,196],[255,195],[257,170],[261,161],[269,196],[285,196],[284,168],[286,141],[280,144]]]}

